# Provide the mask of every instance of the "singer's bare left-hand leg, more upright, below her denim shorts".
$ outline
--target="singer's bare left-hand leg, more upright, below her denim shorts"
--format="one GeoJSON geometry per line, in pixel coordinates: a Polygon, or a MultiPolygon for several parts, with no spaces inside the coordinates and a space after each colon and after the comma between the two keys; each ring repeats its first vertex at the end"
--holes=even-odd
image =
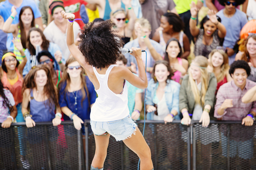
{"type": "Polygon", "coordinates": [[[105,159],[107,157],[107,149],[108,149],[108,143],[109,143],[109,137],[110,134],[107,135],[95,135],[95,155],[92,160],[92,166],[94,168],[103,168],[105,159]]]}

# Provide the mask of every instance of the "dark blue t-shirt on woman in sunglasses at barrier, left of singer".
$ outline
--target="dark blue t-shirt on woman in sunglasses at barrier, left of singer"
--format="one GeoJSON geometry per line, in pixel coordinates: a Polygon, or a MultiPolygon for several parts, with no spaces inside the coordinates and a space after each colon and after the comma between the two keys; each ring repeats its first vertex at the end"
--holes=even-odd
{"type": "MultiPolygon", "coordinates": [[[[92,105],[95,103],[95,100],[97,98],[96,92],[94,90],[94,86],[92,82],[87,76],[85,76],[85,81],[86,81],[86,86],[89,92],[90,105],[92,105]]],[[[79,118],[82,119],[82,121],[90,120],[91,106],[89,106],[86,91],[85,91],[86,97],[81,104],[81,101],[83,98],[82,90],[78,90],[74,92],[68,92],[68,91],[65,92],[67,82],[63,82],[63,84],[60,84],[60,85],[61,85],[59,89],[60,90],[60,99],[59,99],[60,107],[67,106],[70,109],[70,111],[75,113],[79,118]],[[76,100],[75,100],[75,97],[76,97],[76,100]]],[[[63,119],[65,121],[70,120],[70,118],[67,115],[64,115],[63,119]]],[[[84,131],[83,128],[82,128],[82,131],[84,131]]]]}

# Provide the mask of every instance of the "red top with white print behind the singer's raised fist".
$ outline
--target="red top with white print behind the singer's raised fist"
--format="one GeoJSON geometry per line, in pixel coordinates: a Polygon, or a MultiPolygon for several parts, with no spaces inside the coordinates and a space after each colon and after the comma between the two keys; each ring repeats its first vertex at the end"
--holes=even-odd
{"type": "MultiPolygon", "coordinates": [[[[84,0],[63,0],[63,4],[65,7],[65,11],[68,13],[73,13],[76,16],[76,19],[81,19],[80,16],[80,8],[81,5],[87,5],[87,2],[84,0]]],[[[84,23],[81,20],[76,20],[76,22],[79,24],[80,28],[83,29],[84,23]]]]}

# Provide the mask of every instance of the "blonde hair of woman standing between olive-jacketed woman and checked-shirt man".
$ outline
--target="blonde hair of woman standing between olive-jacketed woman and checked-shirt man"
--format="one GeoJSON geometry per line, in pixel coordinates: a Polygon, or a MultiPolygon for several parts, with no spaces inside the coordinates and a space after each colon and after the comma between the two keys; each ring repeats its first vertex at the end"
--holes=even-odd
{"type": "Polygon", "coordinates": [[[229,64],[228,64],[228,55],[222,50],[222,49],[213,49],[212,52],[209,54],[210,63],[209,65],[213,68],[214,73],[214,66],[212,65],[212,56],[215,52],[220,53],[223,56],[223,63],[221,65],[221,71],[219,75],[215,75],[217,78],[217,82],[220,82],[225,77],[227,71],[229,70],[229,64]]]}

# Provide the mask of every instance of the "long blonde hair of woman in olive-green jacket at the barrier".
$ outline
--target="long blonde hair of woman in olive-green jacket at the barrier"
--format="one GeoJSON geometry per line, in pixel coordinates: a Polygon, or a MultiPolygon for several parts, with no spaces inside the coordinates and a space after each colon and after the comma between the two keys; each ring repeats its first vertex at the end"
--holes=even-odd
{"type": "Polygon", "coordinates": [[[207,69],[206,69],[208,65],[208,60],[204,56],[196,56],[195,60],[193,60],[192,63],[197,64],[201,71],[201,83],[202,83],[201,92],[198,90],[197,84],[192,77],[192,74],[190,71],[191,67],[189,67],[189,70],[188,70],[188,74],[189,74],[188,86],[190,86],[193,92],[196,104],[204,106],[204,98],[205,98],[205,94],[209,84],[209,73],[207,72],[207,69]]]}

